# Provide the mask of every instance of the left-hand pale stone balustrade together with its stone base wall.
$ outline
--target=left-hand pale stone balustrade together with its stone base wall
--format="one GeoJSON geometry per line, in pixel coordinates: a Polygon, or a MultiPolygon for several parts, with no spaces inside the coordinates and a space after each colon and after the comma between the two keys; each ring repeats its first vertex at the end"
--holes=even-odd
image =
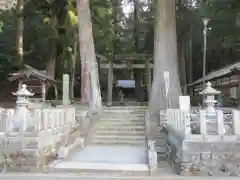
{"type": "MultiPolygon", "coordinates": [[[[15,110],[0,109],[0,164],[4,164],[4,167],[17,163],[15,160],[7,161],[10,157],[24,154],[25,158],[31,159],[28,162],[35,163],[28,166],[44,170],[49,161],[47,158],[57,154],[71,131],[79,125],[75,118],[75,108],[71,106],[34,109],[29,114],[29,120],[33,120],[30,124],[34,127],[22,132],[14,128],[15,110]]],[[[20,164],[27,166],[26,162],[20,164]]]]}

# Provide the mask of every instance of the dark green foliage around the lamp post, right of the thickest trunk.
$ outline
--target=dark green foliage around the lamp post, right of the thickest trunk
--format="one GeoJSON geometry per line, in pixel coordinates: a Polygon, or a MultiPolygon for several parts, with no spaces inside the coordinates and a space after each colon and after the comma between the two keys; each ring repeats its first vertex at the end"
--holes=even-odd
{"type": "Polygon", "coordinates": [[[179,37],[188,42],[193,40],[194,78],[202,76],[203,22],[210,18],[207,36],[207,71],[211,72],[239,60],[236,41],[239,39],[239,27],[236,17],[240,12],[238,0],[205,0],[198,4],[183,1],[180,4],[177,21],[179,37]],[[190,32],[191,31],[191,32],[190,32]]]}

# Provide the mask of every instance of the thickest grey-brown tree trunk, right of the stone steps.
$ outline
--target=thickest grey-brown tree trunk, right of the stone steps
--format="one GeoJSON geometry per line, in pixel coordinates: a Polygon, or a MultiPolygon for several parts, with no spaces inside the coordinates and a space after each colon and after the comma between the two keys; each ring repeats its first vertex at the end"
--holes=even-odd
{"type": "Polygon", "coordinates": [[[175,0],[156,1],[156,25],[154,38],[154,78],[149,110],[152,113],[170,106],[179,106],[181,88],[177,64],[177,35],[175,0]],[[169,91],[166,98],[164,71],[170,75],[169,91]]]}

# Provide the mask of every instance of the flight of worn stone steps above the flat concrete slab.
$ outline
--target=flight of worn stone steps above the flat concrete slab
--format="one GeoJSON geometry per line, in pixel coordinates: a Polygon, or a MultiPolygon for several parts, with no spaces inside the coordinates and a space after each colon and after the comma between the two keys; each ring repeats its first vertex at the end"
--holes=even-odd
{"type": "Polygon", "coordinates": [[[94,127],[91,144],[146,146],[145,107],[111,107],[94,127]]]}

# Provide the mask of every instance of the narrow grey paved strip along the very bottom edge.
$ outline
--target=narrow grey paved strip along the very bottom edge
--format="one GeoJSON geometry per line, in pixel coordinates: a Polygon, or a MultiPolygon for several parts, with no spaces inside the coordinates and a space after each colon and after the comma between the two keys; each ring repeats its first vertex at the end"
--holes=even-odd
{"type": "Polygon", "coordinates": [[[0,180],[239,180],[239,177],[202,177],[163,175],[156,177],[114,177],[114,176],[81,176],[76,174],[0,174],[0,180]]]}

